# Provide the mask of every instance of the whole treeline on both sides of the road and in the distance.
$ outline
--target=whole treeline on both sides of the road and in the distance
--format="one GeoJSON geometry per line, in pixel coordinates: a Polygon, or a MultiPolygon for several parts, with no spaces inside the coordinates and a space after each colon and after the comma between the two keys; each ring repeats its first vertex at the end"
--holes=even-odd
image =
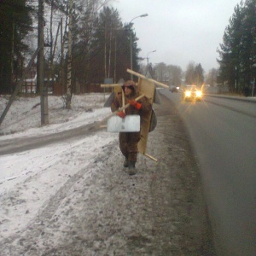
{"type": "MultiPolygon", "coordinates": [[[[143,66],[133,23],[123,23],[110,0],[1,0],[1,94],[13,93],[20,79],[26,79],[25,68],[38,49],[39,3],[44,8],[44,79],[56,81],[64,91],[68,83],[74,92],[78,84],[86,89],[105,79],[113,83],[129,79],[126,69],[131,67],[131,60],[134,71],[170,85],[224,84],[246,96],[253,90],[256,0],[236,5],[217,49],[219,67],[207,74],[201,63],[193,61],[185,71],[175,63],[143,66]]],[[[32,66],[37,65],[35,58],[32,66]]]]}

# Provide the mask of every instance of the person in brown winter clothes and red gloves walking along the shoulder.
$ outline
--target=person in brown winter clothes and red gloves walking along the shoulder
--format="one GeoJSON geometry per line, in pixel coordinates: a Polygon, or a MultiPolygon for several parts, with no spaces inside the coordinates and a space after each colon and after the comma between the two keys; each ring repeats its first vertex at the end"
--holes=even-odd
{"type": "MultiPolygon", "coordinates": [[[[152,110],[152,104],[148,101],[148,98],[143,96],[138,101],[135,99],[139,96],[137,92],[136,84],[132,80],[128,80],[123,84],[122,90],[124,90],[125,104],[129,103],[130,106],[125,108],[124,111],[119,111],[117,115],[124,119],[126,115],[137,114],[141,117],[141,127],[143,125],[143,117],[147,116],[152,110]]],[[[119,93],[113,99],[111,104],[111,111],[115,112],[119,108],[123,107],[122,93],[119,93]]],[[[141,131],[137,132],[119,132],[119,148],[122,154],[125,156],[124,167],[128,167],[130,175],[136,174],[137,170],[135,164],[137,162],[137,144],[141,138],[141,131]]]]}

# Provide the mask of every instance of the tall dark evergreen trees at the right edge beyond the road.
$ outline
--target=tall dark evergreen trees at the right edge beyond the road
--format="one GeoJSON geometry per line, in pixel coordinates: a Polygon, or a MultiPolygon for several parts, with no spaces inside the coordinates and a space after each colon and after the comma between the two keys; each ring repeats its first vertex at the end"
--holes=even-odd
{"type": "Polygon", "coordinates": [[[245,93],[252,90],[255,80],[255,27],[256,1],[237,4],[224,31],[223,44],[218,49],[219,79],[228,84],[231,91],[245,93]]]}

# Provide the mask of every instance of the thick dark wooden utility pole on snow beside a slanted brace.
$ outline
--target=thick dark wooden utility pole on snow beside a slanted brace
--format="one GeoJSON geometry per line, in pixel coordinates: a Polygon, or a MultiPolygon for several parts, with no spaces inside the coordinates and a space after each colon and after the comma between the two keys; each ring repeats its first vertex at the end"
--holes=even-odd
{"type": "Polygon", "coordinates": [[[44,0],[38,0],[38,49],[37,84],[40,89],[41,125],[48,125],[48,91],[44,85],[44,0]]]}

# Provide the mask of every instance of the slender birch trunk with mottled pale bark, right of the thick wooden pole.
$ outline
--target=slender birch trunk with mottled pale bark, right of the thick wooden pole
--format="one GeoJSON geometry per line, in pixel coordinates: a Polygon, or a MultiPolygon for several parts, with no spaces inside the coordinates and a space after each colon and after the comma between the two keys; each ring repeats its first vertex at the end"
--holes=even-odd
{"type": "Polygon", "coordinates": [[[68,59],[67,59],[67,98],[66,108],[71,108],[71,76],[72,76],[72,13],[73,0],[69,0],[69,17],[68,17],[68,59]]]}

